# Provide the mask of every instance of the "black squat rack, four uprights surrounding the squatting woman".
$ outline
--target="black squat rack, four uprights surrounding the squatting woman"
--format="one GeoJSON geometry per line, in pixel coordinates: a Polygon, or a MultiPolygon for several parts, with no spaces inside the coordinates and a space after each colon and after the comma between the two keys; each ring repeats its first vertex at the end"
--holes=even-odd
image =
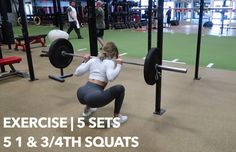
{"type": "MultiPolygon", "coordinates": [[[[152,32],[152,0],[148,1],[148,51],[151,48],[151,32],[152,32]]],[[[199,60],[200,60],[200,47],[201,47],[201,31],[202,31],[202,16],[203,16],[203,5],[204,0],[200,1],[200,14],[199,14],[199,26],[198,26],[198,37],[197,37],[197,50],[196,50],[196,63],[195,63],[195,80],[199,80],[198,70],[199,70],[199,60]]],[[[96,19],[95,19],[95,0],[88,1],[89,8],[89,37],[90,37],[90,53],[93,56],[98,54],[97,50],[97,38],[96,38],[96,19]]],[[[164,0],[158,1],[158,32],[157,32],[157,49],[158,57],[160,58],[158,65],[162,65],[162,55],[163,55],[163,9],[164,0]]],[[[155,101],[155,111],[154,114],[162,115],[165,110],[161,109],[161,75],[162,70],[158,71],[160,75],[159,79],[156,80],[156,101],[155,101]]]]}

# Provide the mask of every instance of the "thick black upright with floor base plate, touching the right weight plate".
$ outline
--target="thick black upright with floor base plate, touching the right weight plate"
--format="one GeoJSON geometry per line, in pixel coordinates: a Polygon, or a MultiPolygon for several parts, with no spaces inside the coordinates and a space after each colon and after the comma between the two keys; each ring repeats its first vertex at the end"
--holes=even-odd
{"type": "MultiPolygon", "coordinates": [[[[163,52],[163,7],[164,0],[158,1],[158,9],[157,9],[157,19],[158,19],[158,31],[157,31],[157,48],[158,48],[158,65],[162,65],[162,52],[163,52]]],[[[165,110],[161,109],[161,76],[162,70],[157,69],[159,78],[156,82],[156,106],[155,106],[155,114],[162,115],[165,110]]]]}

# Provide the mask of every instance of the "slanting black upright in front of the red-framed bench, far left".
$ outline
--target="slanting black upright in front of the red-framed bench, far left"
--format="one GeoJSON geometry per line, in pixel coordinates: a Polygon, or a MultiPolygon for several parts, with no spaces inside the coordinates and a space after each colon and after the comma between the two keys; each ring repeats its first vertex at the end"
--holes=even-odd
{"type": "Polygon", "coordinates": [[[19,10],[20,10],[20,17],[21,17],[21,24],[22,24],[21,30],[24,37],[24,41],[25,41],[30,80],[34,81],[36,79],[34,75],[34,66],[33,66],[33,60],[32,60],[32,55],[31,55],[30,43],[29,43],[29,34],[28,34],[28,27],[27,27],[27,22],[26,22],[24,0],[19,0],[19,10]]]}

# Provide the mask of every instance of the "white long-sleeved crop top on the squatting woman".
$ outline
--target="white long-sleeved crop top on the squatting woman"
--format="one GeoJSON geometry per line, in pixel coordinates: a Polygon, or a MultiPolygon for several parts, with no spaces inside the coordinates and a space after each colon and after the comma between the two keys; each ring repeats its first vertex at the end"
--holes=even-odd
{"type": "Polygon", "coordinates": [[[82,63],[75,70],[75,76],[81,76],[89,71],[89,79],[102,82],[113,81],[121,71],[121,64],[116,64],[113,60],[100,60],[98,57],[92,57],[86,63],[82,63]]]}

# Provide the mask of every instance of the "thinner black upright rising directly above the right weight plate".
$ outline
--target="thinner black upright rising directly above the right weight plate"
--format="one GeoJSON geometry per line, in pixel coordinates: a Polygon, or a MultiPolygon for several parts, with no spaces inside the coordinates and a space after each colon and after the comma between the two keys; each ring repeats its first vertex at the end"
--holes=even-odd
{"type": "Polygon", "coordinates": [[[152,47],[152,0],[148,0],[148,50],[152,47]]]}

